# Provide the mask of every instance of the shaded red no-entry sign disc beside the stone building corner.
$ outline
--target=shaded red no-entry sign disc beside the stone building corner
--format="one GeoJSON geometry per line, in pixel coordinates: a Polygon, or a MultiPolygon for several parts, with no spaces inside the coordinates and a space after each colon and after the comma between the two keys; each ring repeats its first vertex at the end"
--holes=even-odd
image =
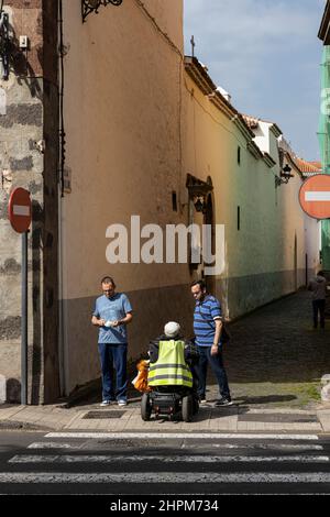
{"type": "Polygon", "coordinates": [[[24,188],[15,188],[10,196],[8,217],[12,228],[18,233],[25,233],[32,220],[30,193],[24,188]]]}

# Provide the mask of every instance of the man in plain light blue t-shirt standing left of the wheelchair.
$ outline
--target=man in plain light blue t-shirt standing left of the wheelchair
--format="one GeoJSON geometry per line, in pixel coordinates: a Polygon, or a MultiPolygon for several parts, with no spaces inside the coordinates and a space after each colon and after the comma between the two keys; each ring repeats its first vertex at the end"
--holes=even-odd
{"type": "Polygon", "coordinates": [[[99,327],[99,354],[102,370],[102,403],[109,406],[117,399],[119,406],[128,404],[127,324],[133,319],[129,298],[123,293],[116,293],[116,284],[110,276],[101,280],[102,296],[97,298],[91,322],[99,327]],[[116,391],[112,366],[116,369],[116,391]]]}

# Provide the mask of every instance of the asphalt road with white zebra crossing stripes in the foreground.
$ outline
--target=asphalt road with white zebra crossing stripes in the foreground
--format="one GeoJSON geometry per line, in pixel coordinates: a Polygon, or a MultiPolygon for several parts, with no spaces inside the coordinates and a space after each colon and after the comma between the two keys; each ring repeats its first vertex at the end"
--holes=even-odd
{"type": "Polygon", "coordinates": [[[0,432],[0,495],[330,495],[330,437],[91,436],[0,432]]]}

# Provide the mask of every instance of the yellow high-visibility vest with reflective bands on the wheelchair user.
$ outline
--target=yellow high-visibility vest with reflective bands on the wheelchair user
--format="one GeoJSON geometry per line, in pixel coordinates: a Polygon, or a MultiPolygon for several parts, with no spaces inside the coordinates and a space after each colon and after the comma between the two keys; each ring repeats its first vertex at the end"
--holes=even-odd
{"type": "Polygon", "coordinates": [[[193,387],[193,375],[185,361],[184,341],[160,341],[158,360],[151,363],[147,384],[193,387]]]}

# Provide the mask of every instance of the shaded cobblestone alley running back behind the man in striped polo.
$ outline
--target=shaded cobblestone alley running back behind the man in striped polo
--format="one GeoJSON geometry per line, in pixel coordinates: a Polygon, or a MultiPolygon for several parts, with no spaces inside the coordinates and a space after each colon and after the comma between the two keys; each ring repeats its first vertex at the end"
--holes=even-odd
{"type": "MultiPolygon", "coordinates": [[[[315,330],[310,294],[301,290],[230,327],[224,363],[233,397],[246,404],[305,405],[330,373],[330,321],[315,330]]],[[[209,375],[210,393],[218,393],[209,375]]]]}

